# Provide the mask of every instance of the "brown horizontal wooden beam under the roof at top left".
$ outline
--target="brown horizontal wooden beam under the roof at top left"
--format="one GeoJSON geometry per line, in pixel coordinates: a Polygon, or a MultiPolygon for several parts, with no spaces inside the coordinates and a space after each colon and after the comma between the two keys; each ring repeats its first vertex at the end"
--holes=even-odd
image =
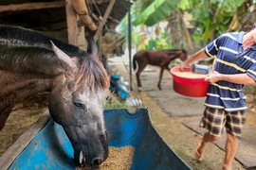
{"type": "Polygon", "coordinates": [[[17,10],[32,10],[40,8],[62,8],[65,6],[64,1],[56,1],[49,3],[26,3],[26,4],[11,4],[9,6],[0,6],[0,12],[17,11],[17,10]]]}

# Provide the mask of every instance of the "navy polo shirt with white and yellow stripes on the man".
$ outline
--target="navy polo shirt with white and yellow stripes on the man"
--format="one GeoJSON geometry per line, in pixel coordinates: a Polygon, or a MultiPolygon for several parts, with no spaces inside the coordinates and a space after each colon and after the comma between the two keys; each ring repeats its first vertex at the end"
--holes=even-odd
{"type": "MultiPolygon", "coordinates": [[[[247,74],[256,80],[256,45],[243,50],[246,32],[225,33],[210,42],[205,53],[214,58],[214,71],[220,74],[247,74]]],[[[247,110],[243,84],[217,81],[210,84],[205,102],[206,107],[227,111],[247,110]]]]}

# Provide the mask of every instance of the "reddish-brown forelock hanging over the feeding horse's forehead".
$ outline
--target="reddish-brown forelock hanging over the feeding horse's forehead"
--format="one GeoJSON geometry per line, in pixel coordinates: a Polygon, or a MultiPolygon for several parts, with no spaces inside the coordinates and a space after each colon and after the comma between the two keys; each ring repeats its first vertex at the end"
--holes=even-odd
{"type": "Polygon", "coordinates": [[[84,83],[86,83],[92,91],[94,91],[96,87],[101,90],[109,88],[107,72],[101,60],[96,58],[84,59],[75,79],[74,91],[80,88],[84,83]]]}

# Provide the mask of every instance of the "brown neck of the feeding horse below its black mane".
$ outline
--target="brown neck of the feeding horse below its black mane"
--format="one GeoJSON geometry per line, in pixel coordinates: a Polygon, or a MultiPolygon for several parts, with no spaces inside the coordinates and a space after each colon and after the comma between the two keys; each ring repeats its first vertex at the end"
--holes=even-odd
{"type": "Polygon", "coordinates": [[[52,51],[2,45],[0,111],[30,96],[50,91],[53,78],[64,72],[62,68],[52,51]]]}

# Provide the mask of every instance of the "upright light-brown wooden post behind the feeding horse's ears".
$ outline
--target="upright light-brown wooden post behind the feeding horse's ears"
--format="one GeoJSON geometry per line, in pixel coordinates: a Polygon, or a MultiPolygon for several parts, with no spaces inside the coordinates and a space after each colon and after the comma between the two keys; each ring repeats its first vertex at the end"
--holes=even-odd
{"type": "Polygon", "coordinates": [[[65,0],[65,2],[68,42],[78,46],[79,27],[77,24],[77,13],[75,12],[70,0],[65,0]]]}

